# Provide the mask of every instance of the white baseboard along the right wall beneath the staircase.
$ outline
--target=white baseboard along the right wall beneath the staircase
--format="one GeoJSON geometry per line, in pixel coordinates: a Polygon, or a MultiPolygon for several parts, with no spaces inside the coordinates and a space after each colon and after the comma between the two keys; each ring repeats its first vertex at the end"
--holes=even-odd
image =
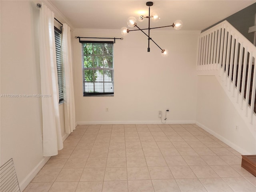
{"type": "Polygon", "coordinates": [[[225,144],[227,144],[228,146],[230,146],[231,148],[233,148],[234,150],[236,150],[237,152],[239,152],[240,154],[243,155],[252,155],[250,152],[246,151],[245,149],[237,146],[236,144],[234,144],[233,142],[231,142],[230,140],[222,137],[221,135],[219,135],[218,133],[212,131],[210,128],[204,126],[203,124],[196,122],[196,125],[200,126],[202,129],[204,129],[205,131],[207,131],[208,133],[212,134],[214,137],[218,138],[219,140],[221,140],[222,142],[224,142],[225,144]]]}

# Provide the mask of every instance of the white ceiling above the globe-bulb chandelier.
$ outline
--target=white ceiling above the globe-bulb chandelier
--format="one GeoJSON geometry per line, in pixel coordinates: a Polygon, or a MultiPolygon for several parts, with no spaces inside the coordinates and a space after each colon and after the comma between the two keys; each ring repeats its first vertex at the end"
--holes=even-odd
{"type": "MultiPolygon", "coordinates": [[[[50,0],[74,28],[120,29],[130,16],[148,16],[147,0],[50,0]],[[145,12],[141,14],[139,12],[145,12]]],[[[153,0],[150,12],[157,11],[160,20],[151,27],[172,25],[182,20],[182,30],[203,30],[250,6],[255,0],[153,0]]],[[[148,28],[148,22],[138,22],[148,28]]],[[[126,26],[127,27],[127,26],[126,26]]],[[[163,28],[164,29],[164,28],[163,28]]]]}

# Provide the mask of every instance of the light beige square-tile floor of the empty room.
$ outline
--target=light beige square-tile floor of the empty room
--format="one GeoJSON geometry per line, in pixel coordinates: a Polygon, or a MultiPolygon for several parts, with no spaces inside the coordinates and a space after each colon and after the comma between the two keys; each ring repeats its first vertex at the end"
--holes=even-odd
{"type": "Polygon", "coordinates": [[[83,125],[24,192],[256,192],[241,158],[195,124],[83,125]]]}

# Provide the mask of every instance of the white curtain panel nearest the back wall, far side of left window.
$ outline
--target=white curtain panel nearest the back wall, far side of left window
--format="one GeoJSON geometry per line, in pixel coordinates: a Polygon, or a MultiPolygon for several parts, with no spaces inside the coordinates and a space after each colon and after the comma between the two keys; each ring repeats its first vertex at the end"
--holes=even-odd
{"type": "Polygon", "coordinates": [[[71,53],[71,37],[70,27],[63,24],[62,34],[62,62],[64,73],[64,116],[65,116],[65,132],[71,133],[76,128],[75,124],[75,100],[74,100],[74,84],[72,72],[72,53],[71,53]]]}

